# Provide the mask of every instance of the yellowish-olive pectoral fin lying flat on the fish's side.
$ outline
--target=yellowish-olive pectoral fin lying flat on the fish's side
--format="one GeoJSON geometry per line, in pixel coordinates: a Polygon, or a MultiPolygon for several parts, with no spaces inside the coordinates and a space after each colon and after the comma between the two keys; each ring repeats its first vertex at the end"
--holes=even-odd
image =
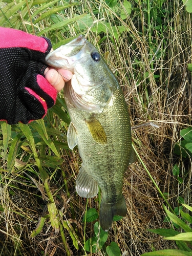
{"type": "Polygon", "coordinates": [[[86,124],[88,125],[88,129],[93,139],[97,143],[106,144],[106,134],[101,123],[95,117],[93,117],[89,120],[86,120],[86,124]]]}

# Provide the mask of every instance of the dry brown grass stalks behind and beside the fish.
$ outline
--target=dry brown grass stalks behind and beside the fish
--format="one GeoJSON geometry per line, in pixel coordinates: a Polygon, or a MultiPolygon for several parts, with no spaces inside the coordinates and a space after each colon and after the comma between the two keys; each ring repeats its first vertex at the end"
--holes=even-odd
{"type": "MultiPolygon", "coordinates": [[[[102,1],[101,3],[104,4],[102,1]]],[[[90,5],[91,2],[88,1],[88,9],[90,5]]],[[[106,17],[105,8],[99,3],[96,5],[98,9],[100,8],[101,16],[106,17]]],[[[115,14],[112,14],[110,19],[115,18],[115,14]]],[[[71,14],[68,15],[70,17],[71,14]]],[[[152,34],[153,44],[159,49],[158,58],[155,52],[150,51],[152,46],[146,31],[143,34],[139,33],[144,31],[145,27],[140,22],[137,24],[136,18],[134,19],[137,17],[136,14],[127,18],[126,24],[122,22],[129,33],[122,34],[119,41],[115,41],[115,45],[110,37],[107,37],[100,49],[103,54],[109,53],[108,63],[118,75],[129,105],[132,125],[148,120],[159,125],[159,129],[142,127],[133,130],[133,142],[162,193],[168,193],[168,202],[175,208],[178,206],[179,196],[184,198],[185,203],[191,204],[191,160],[178,157],[174,153],[174,146],[180,140],[180,130],[192,125],[191,74],[187,71],[187,64],[192,62],[192,33],[191,15],[185,11],[182,4],[173,4],[172,14],[165,15],[168,15],[169,20],[167,27],[162,34],[156,33],[156,30],[152,34]],[[152,57],[153,63],[150,62],[152,57]],[[154,78],[154,74],[159,75],[159,79],[154,78]],[[172,169],[175,163],[182,172],[182,185],[173,177],[172,169]]],[[[70,27],[70,35],[74,34],[75,30],[70,27]]],[[[94,33],[90,31],[88,37],[97,45],[98,37],[94,33]]],[[[50,188],[56,206],[63,211],[64,219],[72,223],[73,227],[76,225],[81,248],[84,241],[82,217],[86,210],[86,201],[74,192],[80,159],[77,152],[70,151],[63,151],[62,158],[64,162],[51,179],[50,188]],[[64,178],[66,184],[63,184],[64,178]]],[[[39,189],[41,188],[40,191],[23,173],[24,170],[8,175],[4,171],[5,162],[2,159],[0,256],[66,255],[61,237],[55,234],[49,221],[45,222],[44,228],[36,237],[30,238],[39,217],[48,214],[46,194],[38,178],[38,172],[33,171],[36,172],[35,179],[39,189]]],[[[32,167],[30,164],[25,172],[30,172],[32,167]]],[[[139,161],[132,164],[125,173],[123,194],[127,203],[127,216],[113,223],[107,244],[115,241],[123,256],[138,256],[151,251],[152,247],[156,250],[175,248],[172,242],[164,241],[147,231],[169,228],[170,225],[163,222],[163,199],[139,161]]],[[[98,204],[94,199],[90,199],[88,207],[98,209],[98,204]]],[[[71,254],[83,255],[83,250],[77,251],[74,248],[67,230],[65,236],[71,254]]],[[[91,236],[93,224],[87,224],[86,240],[91,236]]],[[[97,255],[102,255],[102,252],[98,252],[97,255]]]]}

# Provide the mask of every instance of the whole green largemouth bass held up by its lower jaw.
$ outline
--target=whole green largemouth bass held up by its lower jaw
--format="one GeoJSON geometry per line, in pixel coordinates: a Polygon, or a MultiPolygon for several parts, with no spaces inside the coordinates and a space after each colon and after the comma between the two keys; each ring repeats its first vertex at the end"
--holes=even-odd
{"type": "Polygon", "coordinates": [[[126,216],[124,173],[136,160],[122,89],[99,51],[82,35],[49,53],[46,63],[73,73],[64,97],[71,118],[68,145],[71,150],[78,146],[82,160],[75,188],[80,197],[93,198],[100,187],[99,221],[107,231],[115,215],[126,216]]]}

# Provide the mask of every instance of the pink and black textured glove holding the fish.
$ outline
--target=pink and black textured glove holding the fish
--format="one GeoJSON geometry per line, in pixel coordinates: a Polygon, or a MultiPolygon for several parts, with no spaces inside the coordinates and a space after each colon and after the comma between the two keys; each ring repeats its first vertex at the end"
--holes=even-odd
{"type": "Polygon", "coordinates": [[[50,50],[47,38],[0,28],[0,120],[28,123],[54,105],[57,91],[44,77],[50,50]]]}

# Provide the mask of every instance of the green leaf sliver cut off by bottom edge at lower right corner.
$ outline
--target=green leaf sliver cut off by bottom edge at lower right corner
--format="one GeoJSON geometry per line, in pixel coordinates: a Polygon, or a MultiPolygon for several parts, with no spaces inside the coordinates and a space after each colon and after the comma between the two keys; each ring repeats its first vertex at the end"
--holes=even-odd
{"type": "Polygon", "coordinates": [[[141,256],[192,256],[191,252],[177,249],[167,249],[161,251],[152,251],[141,254],[141,256]]]}

